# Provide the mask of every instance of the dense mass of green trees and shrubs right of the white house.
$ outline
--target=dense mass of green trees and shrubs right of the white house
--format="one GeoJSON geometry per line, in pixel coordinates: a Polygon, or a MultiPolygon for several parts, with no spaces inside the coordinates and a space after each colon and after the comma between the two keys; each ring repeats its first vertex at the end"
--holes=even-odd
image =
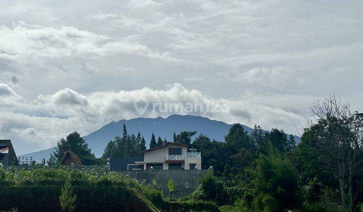
{"type": "Polygon", "coordinates": [[[301,142],[283,130],[249,135],[235,124],[225,142],[199,135],[191,144],[214,173],[185,199],[223,211],[358,211],[363,202],[363,114],[335,96],[317,101],[301,142]],[[314,123],[314,124],[313,124],[314,123]]]}

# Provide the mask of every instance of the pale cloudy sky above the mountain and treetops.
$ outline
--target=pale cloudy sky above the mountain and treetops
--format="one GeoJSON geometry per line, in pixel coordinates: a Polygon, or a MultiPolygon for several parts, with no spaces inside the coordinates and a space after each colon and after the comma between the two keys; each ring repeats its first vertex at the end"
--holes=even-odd
{"type": "Polygon", "coordinates": [[[0,7],[0,139],[17,154],[173,113],[299,134],[363,110],[361,1],[16,1],[0,7]],[[147,99],[145,113],[135,99],[147,99]],[[201,103],[215,110],[152,110],[201,103]]]}

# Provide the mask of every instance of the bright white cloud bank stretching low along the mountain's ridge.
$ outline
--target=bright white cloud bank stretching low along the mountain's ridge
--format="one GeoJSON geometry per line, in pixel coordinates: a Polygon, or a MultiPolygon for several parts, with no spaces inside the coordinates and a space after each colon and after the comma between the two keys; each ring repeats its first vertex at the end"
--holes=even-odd
{"type": "Polygon", "coordinates": [[[276,105],[214,98],[176,83],[167,89],[144,87],[88,94],[65,88],[53,94],[39,95],[32,101],[8,102],[0,111],[0,132],[12,137],[15,143],[33,144],[26,149],[17,146],[20,152],[44,149],[72,131],[86,135],[110,121],[138,117],[134,100],[140,97],[149,101],[144,117],[167,117],[175,113],[200,115],[227,123],[259,124],[265,129],[273,126],[287,132],[294,132],[295,126],[291,123],[304,120],[301,115],[276,105]]]}

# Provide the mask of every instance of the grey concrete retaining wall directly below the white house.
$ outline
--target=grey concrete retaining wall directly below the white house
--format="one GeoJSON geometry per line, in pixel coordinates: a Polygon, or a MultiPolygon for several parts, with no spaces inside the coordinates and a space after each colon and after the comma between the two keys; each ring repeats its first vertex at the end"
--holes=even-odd
{"type": "MultiPolygon", "coordinates": [[[[207,170],[134,170],[134,171],[119,171],[117,174],[126,174],[131,178],[137,179],[140,182],[143,180],[147,184],[152,184],[153,179],[163,191],[164,196],[169,196],[168,182],[172,179],[174,182],[174,190],[179,189],[181,192],[176,192],[175,197],[186,196],[195,191],[199,186],[198,179],[203,178],[207,170]]],[[[174,194],[173,194],[174,195],[174,194]]]]}

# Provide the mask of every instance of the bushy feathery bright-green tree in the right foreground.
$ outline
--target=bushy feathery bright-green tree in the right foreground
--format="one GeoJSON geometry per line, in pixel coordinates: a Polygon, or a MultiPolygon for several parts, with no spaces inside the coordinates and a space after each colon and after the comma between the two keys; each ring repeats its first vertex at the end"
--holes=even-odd
{"type": "Polygon", "coordinates": [[[260,154],[254,173],[254,206],[257,211],[284,211],[298,204],[297,175],[293,165],[269,144],[260,154]]]}

